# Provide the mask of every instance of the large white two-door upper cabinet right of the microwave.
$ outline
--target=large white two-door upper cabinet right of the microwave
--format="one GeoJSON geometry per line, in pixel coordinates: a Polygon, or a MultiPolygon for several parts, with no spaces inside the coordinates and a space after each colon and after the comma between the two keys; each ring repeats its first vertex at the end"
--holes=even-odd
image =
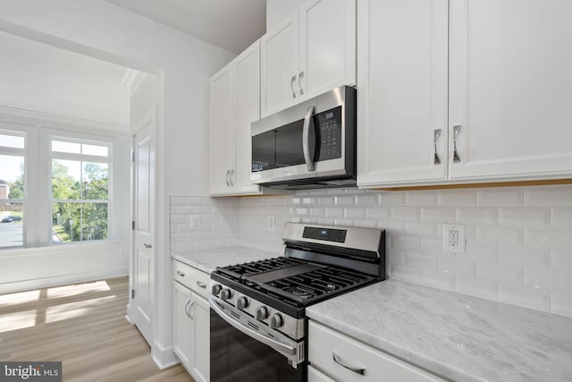
{"type": "Polygon", "coordinates": [[[572,174],[572,2],[357,6],[359,186],[572,174]]]}

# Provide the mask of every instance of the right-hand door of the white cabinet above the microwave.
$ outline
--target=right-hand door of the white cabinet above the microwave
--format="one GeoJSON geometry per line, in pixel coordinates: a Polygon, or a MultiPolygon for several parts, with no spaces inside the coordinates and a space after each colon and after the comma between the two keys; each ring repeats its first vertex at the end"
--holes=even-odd
{"type": "Polygon", "coordinates": [[[356,0],[313,0],[299,10],[299,91],[314,97],[356,84],[356,0]]]}

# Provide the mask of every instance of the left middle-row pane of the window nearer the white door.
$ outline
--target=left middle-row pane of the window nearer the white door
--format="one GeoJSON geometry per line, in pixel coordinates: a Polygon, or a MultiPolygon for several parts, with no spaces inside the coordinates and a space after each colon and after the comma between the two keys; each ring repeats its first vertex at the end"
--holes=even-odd
{"type": "Polygon", "coordinates": [[[52,199],[80,199],[81,162],[52,159],[52,199]]]}

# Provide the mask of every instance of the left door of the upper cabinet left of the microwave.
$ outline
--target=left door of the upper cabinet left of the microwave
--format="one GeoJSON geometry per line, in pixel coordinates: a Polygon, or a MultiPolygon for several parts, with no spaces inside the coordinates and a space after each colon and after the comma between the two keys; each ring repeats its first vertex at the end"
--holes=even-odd
{"type": "Polygon", "coordinates": [[[214,74],[210,83],[211,193],[228,192],[234,162],[231,66],[214,74]]]}

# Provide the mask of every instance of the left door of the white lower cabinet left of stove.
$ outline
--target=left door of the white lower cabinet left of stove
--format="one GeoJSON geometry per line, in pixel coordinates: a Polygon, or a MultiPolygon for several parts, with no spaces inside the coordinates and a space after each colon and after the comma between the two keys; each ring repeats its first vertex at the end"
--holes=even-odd
{"type": "Polygon", "coordinates": [[[192,369],[195,364],[195,341],[193,322],[187,314],[191,298],[190,291],[179,283],[172,283],[172,285],[173,350],[187,369],[192,369]]]}

